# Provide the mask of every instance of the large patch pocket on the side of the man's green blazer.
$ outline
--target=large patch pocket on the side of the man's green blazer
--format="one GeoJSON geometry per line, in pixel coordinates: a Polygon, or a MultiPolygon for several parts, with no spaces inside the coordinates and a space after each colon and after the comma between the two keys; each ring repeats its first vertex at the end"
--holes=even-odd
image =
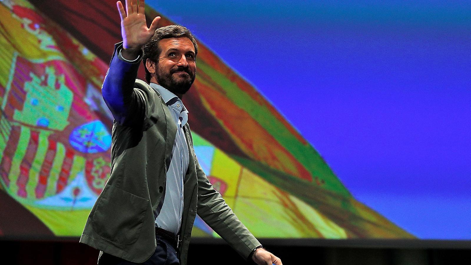
{"type": "Polygon", "coordinates": [[[148,207],[148,199],[107,185],[93,213],[93,230],[114,243],[131,245],[141,234],[148,207]]]}

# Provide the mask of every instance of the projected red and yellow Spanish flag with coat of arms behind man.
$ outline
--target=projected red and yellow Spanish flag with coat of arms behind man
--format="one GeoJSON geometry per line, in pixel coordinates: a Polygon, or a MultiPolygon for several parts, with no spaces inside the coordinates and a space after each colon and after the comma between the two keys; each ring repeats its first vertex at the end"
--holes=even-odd
{"type": "MultiPolygon", "coordinates": [[[[148,21],[157,15],[146,9],[148,21]]],[[[121,38],[117,16],[114,0],[0,3],[0,193],[21,213],[0,220],[0,236],[80,236],[110,172],[113,116],[100,89],[121,38]]],[[[309,142],[201,42],[197,67],[184,99],[196,155],[255,236],[413,238],[354,199],[309,142]]],[[[200,218],[193,233],[217,237],[200,218]]]]}

